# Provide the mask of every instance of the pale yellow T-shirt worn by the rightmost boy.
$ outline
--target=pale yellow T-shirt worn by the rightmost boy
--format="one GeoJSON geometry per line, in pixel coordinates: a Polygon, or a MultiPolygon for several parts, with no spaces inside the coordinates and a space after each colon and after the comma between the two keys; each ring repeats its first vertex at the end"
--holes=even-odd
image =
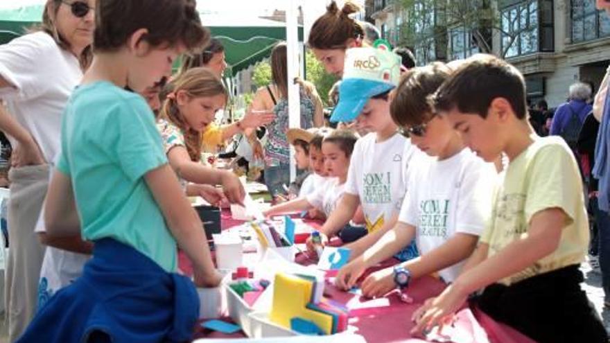
{"type": "Polygon", "coordinates": [[[534,141],[509,164],[494,195],[489,225],[480,240],[489,245],[488,257],[514,240],[528,236],[534,214],[551,208],[568,216],[559,247],[500,283],[510,285],[538,274],[581,263],[589,244],[589,224],[576,160],[559,137],[534,141]]]}

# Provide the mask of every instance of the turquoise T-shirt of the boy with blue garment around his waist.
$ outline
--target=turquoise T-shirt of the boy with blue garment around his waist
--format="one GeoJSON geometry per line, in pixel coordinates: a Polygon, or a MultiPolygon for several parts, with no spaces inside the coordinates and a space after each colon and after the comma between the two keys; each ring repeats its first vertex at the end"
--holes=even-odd
{"type": "Polygon", "coordinates": [[[71,177],[82,237],[114,238],[173,272],[176,242],[143,178],[167,163],[153,112],[110,82],[78,87],[62,117],[57,168],[71,177]]]}

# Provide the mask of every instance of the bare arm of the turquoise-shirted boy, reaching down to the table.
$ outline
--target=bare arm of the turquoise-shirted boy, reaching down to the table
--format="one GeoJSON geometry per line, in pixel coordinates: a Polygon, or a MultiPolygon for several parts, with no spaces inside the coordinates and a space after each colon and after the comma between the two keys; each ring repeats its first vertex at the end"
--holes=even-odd
{"type": "Polygon", "coordinates": [[[172,236],[193,262],[195,284],[200,287],[218,285],[222,277],[212,263],[201,220],[184,196],[171,167],[165,164],[150,170],[144,178],[163,212],[172,236]]]}

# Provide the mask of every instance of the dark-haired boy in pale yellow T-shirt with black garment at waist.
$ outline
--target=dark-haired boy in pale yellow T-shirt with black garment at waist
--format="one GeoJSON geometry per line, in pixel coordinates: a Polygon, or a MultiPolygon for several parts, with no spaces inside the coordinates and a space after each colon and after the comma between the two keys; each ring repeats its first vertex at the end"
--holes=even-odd
{"type": "Polygon", "coordinates": [[[478,247],[458,279],[414,313],[414,332],[444,322],[485,288],[478,306],[537,342],[607,342],[580,288],[589,229],[577,164],[561,138],[534,133],[521,73],[473,57],[433,101],[477,155],[493,161],[503,152],[510,162],[478,247]]]}

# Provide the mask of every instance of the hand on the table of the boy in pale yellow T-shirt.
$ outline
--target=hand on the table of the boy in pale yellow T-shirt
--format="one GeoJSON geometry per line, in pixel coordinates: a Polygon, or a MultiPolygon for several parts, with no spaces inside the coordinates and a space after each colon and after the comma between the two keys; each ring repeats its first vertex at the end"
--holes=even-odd
{"type": "Polygon", "coordinates": [[[448,285],[438,297],[426,300],[424,305],[413,313],[411,320],[415,322],[415,327],[412,328],[411,335],[421,335],[437,325],[443,326],[453,322],[453,314],[462,307],[468,297],[468,294],[462,294],[454,285],[448,285]]]}

